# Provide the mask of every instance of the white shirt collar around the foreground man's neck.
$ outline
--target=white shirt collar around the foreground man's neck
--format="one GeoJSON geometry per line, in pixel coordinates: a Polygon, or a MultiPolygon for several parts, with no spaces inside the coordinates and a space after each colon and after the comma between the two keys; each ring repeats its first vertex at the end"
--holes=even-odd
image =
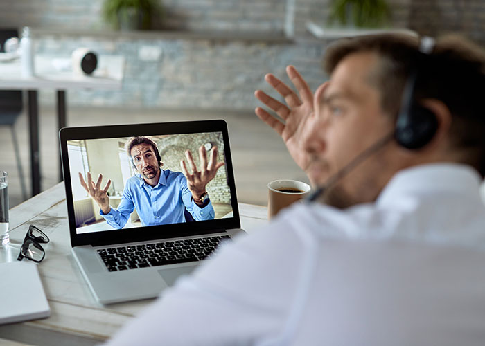
{"type": "Polygon", "coordinates": [[[468,165],[459,163],[431,163],[401,170],[379,194],[376,204],[386,205],[403,194],[449,192],[475,195],[480,199],[482,177],[468,165]]]}

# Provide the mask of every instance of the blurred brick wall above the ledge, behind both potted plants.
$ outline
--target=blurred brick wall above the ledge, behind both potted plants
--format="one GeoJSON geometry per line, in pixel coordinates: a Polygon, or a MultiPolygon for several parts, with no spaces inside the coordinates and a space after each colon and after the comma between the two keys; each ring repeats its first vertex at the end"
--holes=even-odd
{"type": "MultiPolygon", "coordinates": [[[[485,45],[484,0],[387,0],[391,23],[426,35],[461,33],[485,45]]],[[[162,0],[164,27],[194,31],[283,33],[287,3],[298,35],[308,19],[324,22],[330,0],[162,0]]],[[[101,0],[0,0],[0,26],[98,29],[101,0]]]]}

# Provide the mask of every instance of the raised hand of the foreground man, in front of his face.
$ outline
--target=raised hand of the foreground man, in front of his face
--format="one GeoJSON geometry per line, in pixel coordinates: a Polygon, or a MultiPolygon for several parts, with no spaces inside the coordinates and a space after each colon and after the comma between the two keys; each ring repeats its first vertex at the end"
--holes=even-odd
{"type": "Polygon", "coordinates": [[[313,93],[294,66],[288,66],[286,73],[297,88],[299,95],[274,75],[268,73],[265,75],[266,82],[285,98],[286,104],[275,100],[264,91],[256,90],[254,92],[256,98],[272,109],[278,117],[272,116],[261,107],[257,107],[255,112],[258,118],[283,138],[294,161],[303,170],[306,170],[310,164],[310,158],[303,147],[303,131],[313,112],[313,93]]]}

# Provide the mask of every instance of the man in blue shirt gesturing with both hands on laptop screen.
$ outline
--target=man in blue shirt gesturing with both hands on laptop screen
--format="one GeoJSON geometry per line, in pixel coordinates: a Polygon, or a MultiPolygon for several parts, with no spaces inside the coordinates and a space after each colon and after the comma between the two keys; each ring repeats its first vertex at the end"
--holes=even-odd
{"type": "Polygon", "coordinates": [[[126,151],[140,175],[127,180],[118,208],[109,206],[107,190],[111,180],[102,189],[103,174],[99,174],[94,183],[91,172],[87,172],[87,182],[79,173],[82,187],[98,203],[100,215],[110,226],[123,228],[134,208],[143,226],[185,222],[186,211],[197,221],[214,219],[214,209],[206,192],[206,185],[224,165],[223,162],[217,162],[217,147],[211,149],[209,163],[204,145],[200,147],[200,171],[195,166],[191,152],[186,150],[192,173],[182,160],[180,165],[183,174],[161,169],[164,163],[161,162],[157,144],[150,138],[130,138],[126,151]]]}

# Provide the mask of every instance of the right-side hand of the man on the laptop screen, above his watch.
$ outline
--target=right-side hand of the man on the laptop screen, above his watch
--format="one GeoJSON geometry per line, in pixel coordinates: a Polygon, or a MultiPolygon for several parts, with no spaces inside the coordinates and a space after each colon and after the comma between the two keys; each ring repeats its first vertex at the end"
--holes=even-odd
{"type": "Polygon", "coordinates": [[[198,200],[200,196],[206,192],[206,185],[214,179],[215,173],[218,169],[224,165],[223,162],[218,162],[218,147],[213,147],[210,151],[209,163],[207,163],[206,148],[201,145],[199,148],[200,157],[200,170],[197,170],[195,163],[193,161],[192,153],[186,150],[185,156],[188,161],[188,165],[191,166],[191,172],[188,172],[185,161],[180,161],[180,166],[182,167],[182,173],[187,179],[188,190],[191,190],[192,197],[198,200]]]}

